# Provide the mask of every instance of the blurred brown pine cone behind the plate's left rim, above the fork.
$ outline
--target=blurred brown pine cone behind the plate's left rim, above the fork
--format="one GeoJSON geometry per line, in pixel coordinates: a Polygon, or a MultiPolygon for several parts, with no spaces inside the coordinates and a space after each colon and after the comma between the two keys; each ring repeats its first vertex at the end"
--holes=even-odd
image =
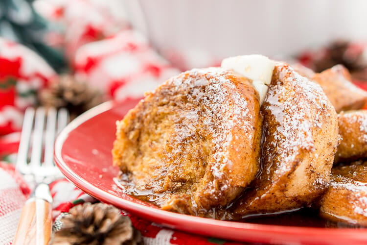
{"type": "Polygon", "coordinates": [[[67,108],[71,120],[103,102],[101,92],[67,74],[40,91],[38,98],[45,107],[67,108]]]}

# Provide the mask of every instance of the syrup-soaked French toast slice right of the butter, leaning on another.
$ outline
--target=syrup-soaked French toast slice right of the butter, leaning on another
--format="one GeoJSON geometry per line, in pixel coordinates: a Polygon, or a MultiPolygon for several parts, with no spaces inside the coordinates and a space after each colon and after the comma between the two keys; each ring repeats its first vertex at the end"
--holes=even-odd
{"type": "Polygon", "coordinates": [[[289,65],[275,65],[260,112],[263,167],[234,206],[236,216],[311,203],[325,191],[338,146],[337,114],[321,87],[289,65]]]}

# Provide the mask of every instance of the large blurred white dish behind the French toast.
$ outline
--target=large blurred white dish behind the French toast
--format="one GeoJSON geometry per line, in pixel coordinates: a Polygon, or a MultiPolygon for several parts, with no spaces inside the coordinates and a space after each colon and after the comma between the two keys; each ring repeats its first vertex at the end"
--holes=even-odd
{"type": "Polygon", "coordinates": [[[190,67],[238,54],[290,55],[336,38],[367,40],[367,0],[124,0],[163,54],[190,67]]]}

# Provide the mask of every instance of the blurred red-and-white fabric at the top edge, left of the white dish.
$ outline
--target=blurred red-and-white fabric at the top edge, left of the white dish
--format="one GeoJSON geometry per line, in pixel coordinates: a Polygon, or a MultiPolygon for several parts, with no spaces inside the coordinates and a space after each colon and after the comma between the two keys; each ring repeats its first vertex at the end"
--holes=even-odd
{"type": "Polygon", "coordinates": [[[37,0],[36,9],[64,26],[65,52],[72,62],[84,44],[129,28],[121,0],[37,0]]]}

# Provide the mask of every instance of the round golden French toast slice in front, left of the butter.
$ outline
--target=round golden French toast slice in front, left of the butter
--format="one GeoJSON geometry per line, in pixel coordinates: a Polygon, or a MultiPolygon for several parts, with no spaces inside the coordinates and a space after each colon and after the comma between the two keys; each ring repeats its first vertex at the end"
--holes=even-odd
{"type": "Polygon", "coordinates": [[[259,107],[251,80],[237,73],[182,73],[117,122],[114,164],[136,190],[159,195],[162,209],[212,216],[259,170],[259,107]]]}

